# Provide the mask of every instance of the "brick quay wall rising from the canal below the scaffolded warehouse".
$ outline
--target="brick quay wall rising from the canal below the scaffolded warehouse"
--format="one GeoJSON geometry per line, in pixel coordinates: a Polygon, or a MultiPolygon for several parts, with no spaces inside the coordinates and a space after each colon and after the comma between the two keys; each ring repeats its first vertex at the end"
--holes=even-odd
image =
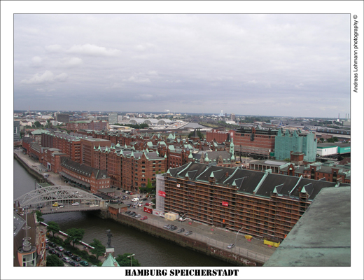
{"type": "Polygon", "coordinates": [[[202,241],[197,241],[185,235],[178,235],[176,232],[170,230],[165,230],[164,228],[158,228],[155,225],[149,223],[144,223],[130,216],[125,216],[123,214],[113,215],[109,211],[93,211],[94,215],[100,218],[109,218],[113,221],[121,223],[123,225],[130,226],[142,232],[146,232],[154,237],[162,238],[170,241],[179,246],[189,248],[190,250],[204,253],[214,258],[224,260],[225,262],[230,262],[232,265],[237,266],[262,266],[264,263],[258,262],[257,260],[250,260],[248,258],[242,257],[230,251],[225,251],[222,248],[217,248],[211,246],[202,241]]]}

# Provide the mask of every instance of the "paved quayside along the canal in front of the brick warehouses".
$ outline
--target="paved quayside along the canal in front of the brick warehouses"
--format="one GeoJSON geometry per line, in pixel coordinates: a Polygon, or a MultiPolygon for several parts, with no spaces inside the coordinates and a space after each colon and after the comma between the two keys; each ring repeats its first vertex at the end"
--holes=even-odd
{"type": "MultiPolygon", "coordinates": [[[[24,155],[21,150],[15,150],[14,153],[17,153],[22,161],[25,162],[29,168],[33,169],[34,172],[37,172],[38,174],[41,174],[43,176],[46,170],[43,165],[41,165],[39,162],[34,161],[32,158],[29,158],[28,155],[24,155]]],[[[64,181],[59,178],[58,174],[55,174],[53,172],[47,172],[47,174],[50,174],[47,178],[50,183],[61,186],[69,186],[69,184],[64,183],[64,181]]],[[[123,193],[121,193],[121,190],[116,190],[116,195],[122,196],[123,193]]],[[[132,199],[132,197],[130,197],[130,200],[132,199]]],[[[125,201],[125,203],[127,204],[130,202],[125,201]]],[[[269,247],[263,244],[262,239],[253,238],[251,239],[251,241],[248,241],[247,239],[245,239],[244,234],[241,234],[241,232],[239,233],[239,235],[237,235],[237,232],[232,232],[223,228],[216,228],[211,225],[204,225],[202,223],[189,223],[188,221],[168,221],[165,218],[154,216],[152,214],[147,214],[143,211],[142,208],[132,208],[132,211],[135,211],[137,212],[137,214],[141,214],[142,216],[148,216],[148,220],[143,221],[144,223],[150,223],[151,225],[154,225],[158,228],[163,228],[166,224],[173,224],[176,225],[178,228],[185,228],[186,231],[192,230],[194,234],[189,236],[190,239],[195,239],[196,241],[204,242],[206,244],[209,244],[210,246],[221,248],[224,251],[230,251],[231,253],[245,256],[247,258],[250,258],[251,260],[265,262],[276,249],[274,247],[269,247]],[[230,243],[236,243],[236,246],[232,249],[228,249],[227,246],[230,243]]],[[[126,217],[130,218],[129,216],[125,216],[125,218],[126,217]]],[[[182,234],[176,233],[176,235],[182,234]]]]}

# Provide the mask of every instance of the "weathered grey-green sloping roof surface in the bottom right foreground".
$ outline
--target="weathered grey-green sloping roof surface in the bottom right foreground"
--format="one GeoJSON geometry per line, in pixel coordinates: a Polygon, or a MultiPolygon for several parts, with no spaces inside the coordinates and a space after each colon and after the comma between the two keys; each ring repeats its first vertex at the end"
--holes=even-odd
{"type": "Polygon", "coordinates": [[[265,267],[349,267],[350,187],[323,188],[265,267]]]}

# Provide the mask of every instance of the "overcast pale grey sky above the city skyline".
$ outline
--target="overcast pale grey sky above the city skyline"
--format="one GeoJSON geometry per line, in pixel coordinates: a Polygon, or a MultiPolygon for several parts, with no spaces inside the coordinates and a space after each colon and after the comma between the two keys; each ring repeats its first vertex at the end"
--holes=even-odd
{"type": "Polygon", "coordinates": [[[350,15],[14,15],[14,109],[344,118],[350,15]]]}

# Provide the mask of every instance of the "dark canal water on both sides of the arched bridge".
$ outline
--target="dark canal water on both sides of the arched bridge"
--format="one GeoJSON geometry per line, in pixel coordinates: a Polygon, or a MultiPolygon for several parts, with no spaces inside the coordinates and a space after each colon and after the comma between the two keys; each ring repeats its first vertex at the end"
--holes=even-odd
{"type": "MultiPolygon", "coordinates": [[[[14,159],[14,198],[35,188],[35,178],[14,159]]],[[[69,228],[83,228],[83,241],[90,244],[94,238],[106,246],[106,230],[113,235],[111,245],[115,255],[134,253],[143,267],[225,267],[231,266],[216,258],[188,250],[181,246],[152,237],[134,228],[121,225],[112,220],[103,220],[90,212],[71,212],[43,216],[45,223],[55,221],[62,231],[69,228]]]]}

